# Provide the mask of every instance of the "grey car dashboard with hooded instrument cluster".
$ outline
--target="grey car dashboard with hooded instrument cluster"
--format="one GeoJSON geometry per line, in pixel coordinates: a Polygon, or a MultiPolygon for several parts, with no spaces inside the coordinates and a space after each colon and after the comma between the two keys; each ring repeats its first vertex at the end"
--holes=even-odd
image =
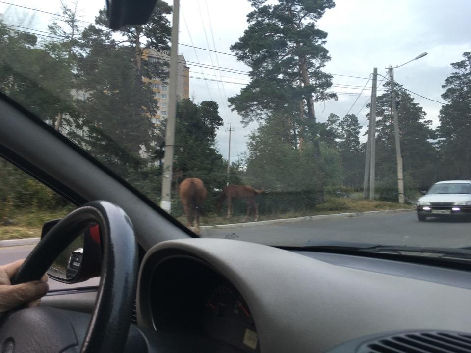
{"type": "Polygon", "coordinates": [[[142,260],[125,352],[462,353],[470,312],[465,267],[170,240],[142,260]]]}

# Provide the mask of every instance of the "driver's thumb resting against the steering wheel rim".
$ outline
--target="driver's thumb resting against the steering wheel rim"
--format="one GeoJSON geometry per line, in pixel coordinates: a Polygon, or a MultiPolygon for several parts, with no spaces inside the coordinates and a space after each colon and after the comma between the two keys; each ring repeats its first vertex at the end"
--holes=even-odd
{"type": "Polygon", "coordinates": [[[31,281],[16,285],[0,286],[0,312],[33,302],[44,296],[49,285],[43,281],[31,281]]]}

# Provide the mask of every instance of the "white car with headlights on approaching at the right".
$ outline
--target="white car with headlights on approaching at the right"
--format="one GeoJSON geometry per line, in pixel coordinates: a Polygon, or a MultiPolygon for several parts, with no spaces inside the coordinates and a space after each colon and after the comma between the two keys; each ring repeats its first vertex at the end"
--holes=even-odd
{"type": "Polygon", "coordinates": [[[470,216],[471,180],[439,181],[416,203],[419,221],[427,217],[470,216]]]}

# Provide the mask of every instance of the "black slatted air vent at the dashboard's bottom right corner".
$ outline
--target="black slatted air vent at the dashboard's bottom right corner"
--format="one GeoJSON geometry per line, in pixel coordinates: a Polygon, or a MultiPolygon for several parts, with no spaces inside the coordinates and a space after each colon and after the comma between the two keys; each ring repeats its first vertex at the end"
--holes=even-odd
{"type": "Polygon", "coordinates": [[[471,353],[471,334],[446,331],[396,333],[365,342],[357,353],[471,353]]]}

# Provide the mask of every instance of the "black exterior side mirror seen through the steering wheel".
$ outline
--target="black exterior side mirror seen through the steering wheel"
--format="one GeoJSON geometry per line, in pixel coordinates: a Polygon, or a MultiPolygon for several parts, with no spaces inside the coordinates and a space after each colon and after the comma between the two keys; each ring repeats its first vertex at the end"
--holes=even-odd
{"type": "MultiPolygon", "coordinates": [[[[43,238],[58,220],[46,222],[41,231],[43,238]]],[[[79,283],[100,276],[102,247],[98,226],[91,227],[78,236],[61,252],[48,269],[48,276],[62,283],[79,283]]]]}

